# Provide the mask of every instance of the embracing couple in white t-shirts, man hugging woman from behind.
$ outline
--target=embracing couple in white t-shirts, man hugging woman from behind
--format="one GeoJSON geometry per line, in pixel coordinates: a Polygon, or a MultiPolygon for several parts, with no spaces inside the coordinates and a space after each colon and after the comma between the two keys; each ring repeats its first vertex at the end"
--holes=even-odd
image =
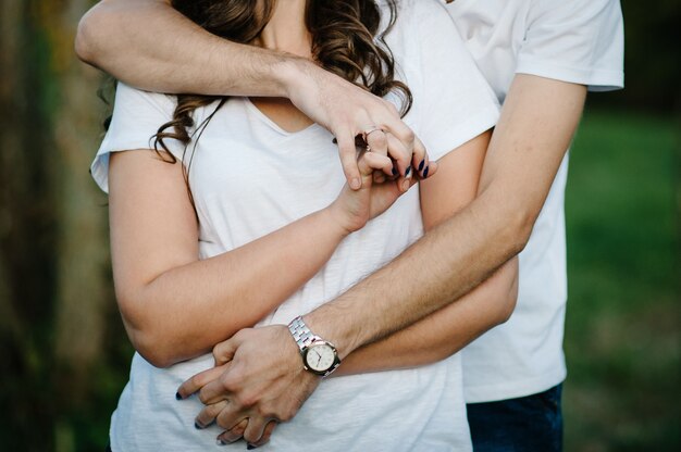
{"type": "Polygon", "coordinates": [[[76,49],[120,80],[112,451],[560,450],[567,149],[618,1],[108,0],[76,49]]]}

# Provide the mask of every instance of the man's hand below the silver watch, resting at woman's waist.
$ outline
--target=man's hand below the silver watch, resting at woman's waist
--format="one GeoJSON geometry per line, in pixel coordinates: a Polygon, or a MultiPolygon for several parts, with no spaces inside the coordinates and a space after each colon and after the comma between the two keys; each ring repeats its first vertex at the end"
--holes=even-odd
{"type": "Polygon", "coordinates": [[[253,445],[269,439],[275,423],[294,417],[321,378],[305,371],[288,328],[273,325],[243,329],[213,349],[215,367],[185,381],[182,399],[198,391],[207,406],[197,427],[213,420],[225,429],[219,441],[242,436],[253,445]]]}

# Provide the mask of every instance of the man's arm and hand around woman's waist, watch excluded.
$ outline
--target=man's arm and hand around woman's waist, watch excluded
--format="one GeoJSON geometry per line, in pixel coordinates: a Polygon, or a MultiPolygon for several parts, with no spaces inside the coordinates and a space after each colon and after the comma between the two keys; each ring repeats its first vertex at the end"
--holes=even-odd
{"type": "MultiPolygon", "coordinates": [[[[392,263],[307,314],[310,329],[345,357],[455,302],[517,255],[530,238],[585,97],[582,85],[517,75],[492,136],[479,197],[392,263]]],[[[220,406],[218,424],[228,429],[231,419],[248,412],[244,439],[251,443],[267,440],[263,427],[270,419],[290,419],[315,386],[285,326],[242,330],[222,342],[215,357],[222,365],[186,381],[179,393],[187,397],[219,377],[230,404],[220,406]],[[228,372],[220,375],[225,366],[228,372]]],[[[213,403],[203,389],[199,398],[213,403]]]]}

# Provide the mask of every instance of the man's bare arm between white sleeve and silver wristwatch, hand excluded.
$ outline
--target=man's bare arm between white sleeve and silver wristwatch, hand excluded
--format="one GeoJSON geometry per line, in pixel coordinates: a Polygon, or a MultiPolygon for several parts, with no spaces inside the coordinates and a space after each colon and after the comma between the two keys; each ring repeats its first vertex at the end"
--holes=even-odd
{"type": "Polygon", "coordinates": [[[585,87],[517,76],[494,131],[479,197],[398,259],[305,316],[340,356],[459,299],[518,254],[548,194],[585,87]]]}

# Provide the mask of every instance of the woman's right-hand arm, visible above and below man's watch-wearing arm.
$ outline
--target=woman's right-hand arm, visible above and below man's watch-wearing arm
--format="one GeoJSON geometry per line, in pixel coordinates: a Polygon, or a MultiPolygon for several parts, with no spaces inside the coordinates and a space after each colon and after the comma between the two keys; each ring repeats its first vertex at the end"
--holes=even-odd
{"type": "MultiPolygon", "coordinates": [[[[438,161],[437,175],[420,184],[426,234],[475,197],[490,133],[438,161]]],[[[362,347],[334,375],[414,367],[443,360],[508,319],[518,294],[518,262],[512,259],[476,289],[422,321],[362,347]]]]}

